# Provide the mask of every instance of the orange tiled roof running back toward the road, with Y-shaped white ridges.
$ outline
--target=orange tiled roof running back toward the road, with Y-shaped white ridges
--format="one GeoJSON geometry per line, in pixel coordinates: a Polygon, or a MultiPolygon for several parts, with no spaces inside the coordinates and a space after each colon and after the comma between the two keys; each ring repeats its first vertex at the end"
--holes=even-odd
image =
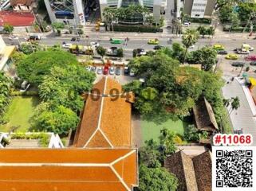
{"type": "Polygon", "coordinates": [[[131,147],[131,103],[134,97],[128,94],[131,96],[129,101],[122,93],[121,85],[108,77],[93,86],[77,128],[75,146],[131,147]],[[117,98],[112,97],[117,93],[117,98]]]}

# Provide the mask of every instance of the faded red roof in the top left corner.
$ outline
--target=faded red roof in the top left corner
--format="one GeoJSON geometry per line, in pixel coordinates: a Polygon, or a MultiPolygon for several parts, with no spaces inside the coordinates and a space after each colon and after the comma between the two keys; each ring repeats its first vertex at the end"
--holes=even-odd
{"type": "Polygon", "coordinates": [[[0,11],[0,26],[10,24],[13,26],[33,25],[35,18],[31,13],[18,13],[14,11],[0,11]]]}

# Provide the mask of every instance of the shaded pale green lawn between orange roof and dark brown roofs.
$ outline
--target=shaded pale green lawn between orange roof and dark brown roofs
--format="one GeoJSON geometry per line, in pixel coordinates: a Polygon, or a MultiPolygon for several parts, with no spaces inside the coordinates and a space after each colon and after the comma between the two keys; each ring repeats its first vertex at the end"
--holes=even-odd
{"type": "Polygon", "coordinates": [[[158,142],[160,130],[164,127],[183,137],[184,132],[186,131],[189,124],[191,123],[184,122],[181,119],[178,119],[177,121],[174,121],[173,119],[167,119],[162,123],[156,123],[154,120],[148,121],[142,117],[140,123],[142,129],[142,141],[145,142],[146,140],[153,138],[158,142]]]}

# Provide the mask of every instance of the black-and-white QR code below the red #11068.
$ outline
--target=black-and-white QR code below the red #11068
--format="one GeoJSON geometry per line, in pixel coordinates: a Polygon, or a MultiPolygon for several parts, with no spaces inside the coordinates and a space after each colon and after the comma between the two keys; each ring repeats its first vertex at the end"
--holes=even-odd
{"type": "Polygon", "coordinates": [[[256,190],[254,146],[214,146],[213,190],[256,190]]]}

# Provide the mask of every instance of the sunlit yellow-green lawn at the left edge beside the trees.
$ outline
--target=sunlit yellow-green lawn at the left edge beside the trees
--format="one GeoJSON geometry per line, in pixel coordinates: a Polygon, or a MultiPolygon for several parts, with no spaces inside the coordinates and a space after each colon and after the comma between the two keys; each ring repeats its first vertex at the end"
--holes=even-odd
{"type": "Polygon", "coordinates": [[[0,132],[8,132],[10,127],[18,127],[16,131],[26,132],[30,128],[30,117],[39,99],[37,96],[13,97],[6,111],[5,118],[8,123],[0,125],[0,132]]]}

